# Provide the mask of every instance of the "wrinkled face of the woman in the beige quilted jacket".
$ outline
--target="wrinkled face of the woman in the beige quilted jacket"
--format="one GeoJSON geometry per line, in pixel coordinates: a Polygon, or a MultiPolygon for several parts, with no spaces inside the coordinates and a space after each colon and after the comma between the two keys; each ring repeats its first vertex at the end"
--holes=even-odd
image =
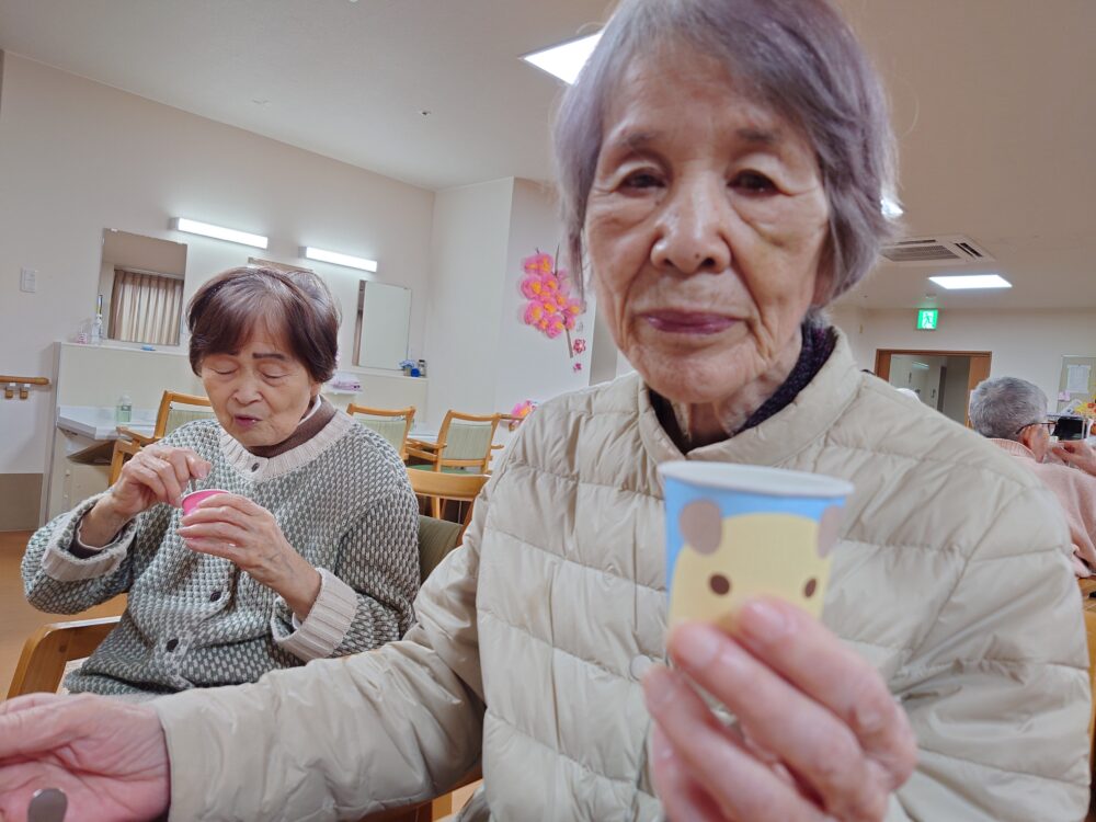
{"type": "Polygon", "coordinates": [[[687,47],[635,59],[608,101],[584,227],[598,307],[659,393],[730,397],[796,343],[822,293],[813,151],[687,47]]]}

